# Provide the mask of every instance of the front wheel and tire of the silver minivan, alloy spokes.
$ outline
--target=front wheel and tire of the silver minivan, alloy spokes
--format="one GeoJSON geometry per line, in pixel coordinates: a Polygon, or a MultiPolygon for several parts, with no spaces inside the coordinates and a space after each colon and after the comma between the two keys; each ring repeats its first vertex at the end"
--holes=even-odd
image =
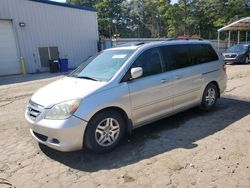
{"type": "Polygon", "coordinates": [[[125,119],[114,110],[97,113],[88,123],[84,136],[86,148],[103,153],[116,147],[125,134],[125,119]]]}

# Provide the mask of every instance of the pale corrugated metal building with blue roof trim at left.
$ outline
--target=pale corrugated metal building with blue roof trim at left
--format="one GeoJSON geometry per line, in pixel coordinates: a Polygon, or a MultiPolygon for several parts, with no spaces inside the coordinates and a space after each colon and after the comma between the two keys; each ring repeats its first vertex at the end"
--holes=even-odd
{"type": "Polygon", "coordinates": [[[69,68],[97,52],[94,8],[47,0],[0,0],[0,76],[48,70],[48,60],[69,59],[69,68]]]}

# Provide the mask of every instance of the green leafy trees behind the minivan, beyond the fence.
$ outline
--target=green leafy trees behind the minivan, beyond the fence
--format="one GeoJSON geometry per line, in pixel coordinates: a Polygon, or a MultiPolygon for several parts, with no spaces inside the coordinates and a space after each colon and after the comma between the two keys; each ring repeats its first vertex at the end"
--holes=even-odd
{"type": "Polygon", "coordinates": [[[218,28],[250,16],[250,0],[67,0],[98,11],[100,35],[114,37],[216,37],[218,28]]]}

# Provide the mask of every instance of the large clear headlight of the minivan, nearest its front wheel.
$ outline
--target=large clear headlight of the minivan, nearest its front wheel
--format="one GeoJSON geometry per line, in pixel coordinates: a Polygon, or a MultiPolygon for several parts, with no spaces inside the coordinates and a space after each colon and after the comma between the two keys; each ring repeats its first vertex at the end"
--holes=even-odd
{"type": "Polygon", "coordinates": [[[45,119],[54,119],[54,120],[62,120],[67,119],[78,109],[80,106],[80,99],[66,101],[60,104],[56,104],[53,106],[45,119]]]}

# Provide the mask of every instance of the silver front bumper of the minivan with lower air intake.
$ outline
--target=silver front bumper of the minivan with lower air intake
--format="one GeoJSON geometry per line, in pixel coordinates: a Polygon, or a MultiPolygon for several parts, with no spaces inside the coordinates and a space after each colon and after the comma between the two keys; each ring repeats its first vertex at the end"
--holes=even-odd
{"type": "Polygon", "coordinates": [[[25,117],[30,124],[30,133],[38,142],[53,149],[69,152],[82,149],[87,122],[71,116],[66,120],[42,119],[35,122],[25,117]]]}

